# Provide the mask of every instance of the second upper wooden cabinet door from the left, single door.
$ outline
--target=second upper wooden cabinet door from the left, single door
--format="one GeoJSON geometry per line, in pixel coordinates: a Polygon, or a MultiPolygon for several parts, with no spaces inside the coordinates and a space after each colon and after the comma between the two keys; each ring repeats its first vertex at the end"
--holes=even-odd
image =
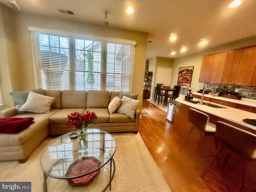
{"type": "Polygon", "coordinates": [[[209,83],[221,83],[228,52],[214,54],[209,83]]]}

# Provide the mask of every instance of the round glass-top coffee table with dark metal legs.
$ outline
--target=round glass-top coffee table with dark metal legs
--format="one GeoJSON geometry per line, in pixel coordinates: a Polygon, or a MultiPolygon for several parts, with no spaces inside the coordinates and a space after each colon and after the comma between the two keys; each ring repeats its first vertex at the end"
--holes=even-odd
{"type": "Polygon", "coordinates": [[[70,139],[74,133],[60,136],[42,152],[40,166],[44,172],[44,192],[47,192],[48,176],[66,179],[72,186],[84,185],[89,190],[90,182],[95,180],[97,190],[104,192],[108,187],[111,190],[116,141],[105,131],[88,129],[88,147],[78,150],[78,139],[70,139]]]}

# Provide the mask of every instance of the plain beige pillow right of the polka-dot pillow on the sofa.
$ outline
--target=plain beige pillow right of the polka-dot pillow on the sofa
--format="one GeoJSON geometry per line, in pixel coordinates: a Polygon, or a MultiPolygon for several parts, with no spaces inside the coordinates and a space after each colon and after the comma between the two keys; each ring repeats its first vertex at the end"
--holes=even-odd
{"type": "Polygon", "coordinates": [[[123,96],[122,104],[118,108],[118,110],[116,110],[116,112],[125,114],[130,118],[134,118],[134,114],[138,107],[139,102],[140,100],[135,100],[135,99],[131,99],[126,96],[123,96]]]}

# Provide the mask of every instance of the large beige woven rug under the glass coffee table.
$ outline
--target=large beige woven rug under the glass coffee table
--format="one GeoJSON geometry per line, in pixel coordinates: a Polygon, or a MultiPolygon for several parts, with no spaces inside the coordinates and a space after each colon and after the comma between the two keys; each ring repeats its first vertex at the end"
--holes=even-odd
{"type": "MultiPolygon", "coordinates": [[[[139,132],[113,133],[116,140],[114,160],[116,172],[111,192],[170,192],[160,169],[154,162],[139,132]]],[[[0,162],[1,182],[31,182],[32,192],[42,192],[43,172],[39,158],[43,149],[53,139],[47,138],[36,148],[24,164],[18,161],[0,162]]],[[[72,187],[67,180],[47,179],[48,192],[84,192],[84,186],[72,187]]],[[[96,189],[86,191],[96,192],[96,189]]],[[[106,191],[109,191],[107,189],[106,191]]]]}

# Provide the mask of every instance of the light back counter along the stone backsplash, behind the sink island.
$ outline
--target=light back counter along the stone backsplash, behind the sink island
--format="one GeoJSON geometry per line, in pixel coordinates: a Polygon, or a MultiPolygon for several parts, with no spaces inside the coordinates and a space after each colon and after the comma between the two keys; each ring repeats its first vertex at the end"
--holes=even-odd
{"type": "MultiPolygon", "coordinates": [[[[202,96],[202,93],[193,92],[192,94],[202,96]]],[[[237,103],[237,104],[247,105],[247,106],[251,106],[251,107],[256,107],[256,100],[255,99],[241,98],[241,100],[236,100],[236,99],[230,99],[230,98],[221,97],[221,96],[212,97],[212,93],[204,94],[204,97],[209,97],[209,98],[214,98],[214,99],[218,99],[218,100],[222,100],[222,101],[228,101],[228,102],[232,102],[232,103],[237,103]]]]}

